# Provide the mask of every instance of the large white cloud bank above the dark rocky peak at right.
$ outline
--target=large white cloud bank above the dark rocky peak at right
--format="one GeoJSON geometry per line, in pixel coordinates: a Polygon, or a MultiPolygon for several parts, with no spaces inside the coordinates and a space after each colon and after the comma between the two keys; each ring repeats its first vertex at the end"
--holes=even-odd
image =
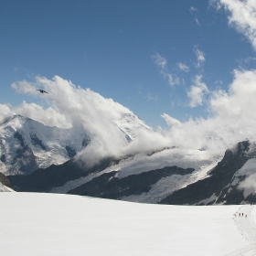
{"type": "MultiPolygon", "coordinates": [[[[172,122],[166,115],[171,130],[166,134],[172,144],[187,148],[203,148],[220,153],[247,138],[256,140],[256,70],[235,70],[229,91],[210,93],[208,119],[189,119],[172,122]]],[[[197,77],[197,81],[200,81],[197,77]]]]}

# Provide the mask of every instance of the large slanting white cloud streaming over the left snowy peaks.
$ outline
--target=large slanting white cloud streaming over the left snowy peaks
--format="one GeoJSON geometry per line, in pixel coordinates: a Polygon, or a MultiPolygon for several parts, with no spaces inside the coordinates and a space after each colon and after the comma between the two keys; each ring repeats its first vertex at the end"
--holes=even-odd
{"type": "Polygon", "coordinates": [[[48,107],[24,101],[12,111],[3,105],[1,108],[6,114],[16,112],[46,125],[83,127],[91,133],[91,144],[79,155],[88,165],[97,163],[103,157],[151,152],[170,144],[162,133],[154,132],[120,103],[105,99],[90,89],[77,87],[59,76],[52,80],[37,77],[35,82],[23,80],[13,83],[12,87],[19,93],[40,97],[48,107]],[[48,91],[48,94],[36,91],[38,88],[48,91]],[[127,123],[123,119],[125,115],[130,115],[135,122],[127,123]],[[131,143],[125,139],[120,124],[133,133],[135,139],[131,143]]]}

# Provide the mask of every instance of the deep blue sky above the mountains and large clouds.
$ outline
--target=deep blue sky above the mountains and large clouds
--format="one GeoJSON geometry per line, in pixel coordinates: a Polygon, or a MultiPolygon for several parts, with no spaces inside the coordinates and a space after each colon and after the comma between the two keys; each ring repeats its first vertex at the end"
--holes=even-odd
{"type": "Polygon", "coordinates": [[[58,75],[154,128],[164,112],[207,117],[210,91],[228,90],[234,69],[255,69],[228,16],[207,0],[0,0],[0,104],[35,101],[16,94],[17,80],[58,75]]]}

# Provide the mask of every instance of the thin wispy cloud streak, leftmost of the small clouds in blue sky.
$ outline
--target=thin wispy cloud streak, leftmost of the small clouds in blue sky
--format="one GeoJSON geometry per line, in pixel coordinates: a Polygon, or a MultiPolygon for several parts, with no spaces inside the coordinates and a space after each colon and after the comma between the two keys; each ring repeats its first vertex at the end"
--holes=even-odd
{"type": "Polygon", "coordinates": [[[172,74],[166,69],[167,60],[165,59],[165,57],[162,57],[158,52],[156,52],[155,55],[151,56],[151,58],[154,60],[155,65],[160,68],[160,73],[163,75],[165,80],[168,81],[168,84],[170,86],[175,86],[180,83],[179,78],[176,76],[176,74],[172,74]]]}

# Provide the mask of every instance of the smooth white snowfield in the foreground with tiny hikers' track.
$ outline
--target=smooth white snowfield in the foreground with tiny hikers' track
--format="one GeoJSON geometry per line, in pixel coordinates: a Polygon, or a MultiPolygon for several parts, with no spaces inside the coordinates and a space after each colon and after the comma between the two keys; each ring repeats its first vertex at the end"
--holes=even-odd
{"type": "Polygon", "coordinates": [[[165,206],[15,192],[0,193],[0,202],[4,256],[256,253],[254,206],[165,206]]]}

